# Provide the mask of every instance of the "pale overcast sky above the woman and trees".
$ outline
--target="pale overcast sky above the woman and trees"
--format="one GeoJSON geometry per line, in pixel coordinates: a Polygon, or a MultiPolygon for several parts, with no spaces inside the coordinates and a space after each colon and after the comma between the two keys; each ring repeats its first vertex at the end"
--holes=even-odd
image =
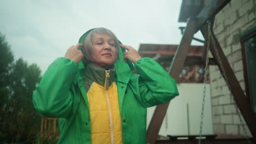
{"type": "MultiPolygon", "coordinates": [[[[0,2],[0,32],[15,58],[37,63],[45,72],[80,35],[95,27],[106,27],[125,45],[179,44],[178,23],[182,0],[84,0],[0,2]]],[[[200,33],[195,37],[201,38],[200,33]]],[[[193,45],[201,45],[193,41],[193,45]]]]}

